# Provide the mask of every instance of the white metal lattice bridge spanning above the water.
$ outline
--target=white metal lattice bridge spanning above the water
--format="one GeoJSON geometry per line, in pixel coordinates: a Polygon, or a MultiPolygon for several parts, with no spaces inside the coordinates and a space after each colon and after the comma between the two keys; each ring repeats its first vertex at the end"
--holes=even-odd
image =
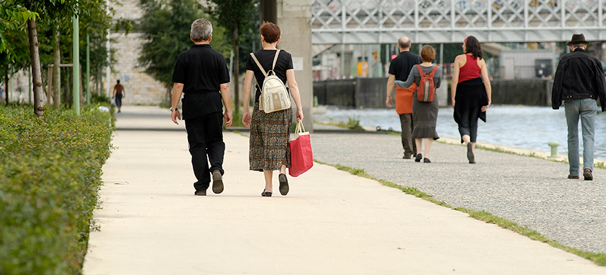
{"type": "Polygon", "coordinates": [[[312,0],[312,44],[606,40],[606,0],[312,0]]]}

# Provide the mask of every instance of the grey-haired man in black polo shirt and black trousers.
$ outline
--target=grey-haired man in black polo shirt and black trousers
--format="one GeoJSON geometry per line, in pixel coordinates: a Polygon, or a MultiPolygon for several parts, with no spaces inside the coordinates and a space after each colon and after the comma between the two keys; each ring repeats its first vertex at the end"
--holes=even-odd
{"type": "Polygon", "coordinates": [[[183,120],[189,142],[191,165],[196,181],[194,195],[206,195],[213,179],[213,192],[223,192],[223,122],[231,126],[231,97],[229,95],[229,72],[225,58],[213,50],[213,26],[206,19],[191,24],[189,38],[194,45],[177,58],[173,72],[173,96],[171,118],[175,124],[181,119],[178,109],[181,94],[183,120]],[[223,102],[225,113],[222,110],[223,102]],[[210,168],[209,164],[210,162],[210,168]]]}

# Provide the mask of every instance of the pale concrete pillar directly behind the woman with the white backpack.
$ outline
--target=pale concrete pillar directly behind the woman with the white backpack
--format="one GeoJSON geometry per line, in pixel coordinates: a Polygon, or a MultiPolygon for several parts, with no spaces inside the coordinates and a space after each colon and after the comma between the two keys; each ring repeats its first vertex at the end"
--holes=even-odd
{"type": "MultiPolygon", "coordinates": [[[[282,32],[280,50],[293,56],[307,131],[313,132],[313,78],[311,72],[311,1],[276,0],[278,26],[282,32]]],[[[293,119],[295,117],[293,116],[293,119]]]]}

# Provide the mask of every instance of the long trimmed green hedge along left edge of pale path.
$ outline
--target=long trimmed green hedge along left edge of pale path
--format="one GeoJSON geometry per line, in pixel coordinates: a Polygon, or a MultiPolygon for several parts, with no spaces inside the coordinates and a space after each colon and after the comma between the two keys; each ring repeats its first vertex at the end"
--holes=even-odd
{"type": "Polygon", "coordinates": [[[0,274],[80,274],[112,115],[0,107],[0,274]]]}

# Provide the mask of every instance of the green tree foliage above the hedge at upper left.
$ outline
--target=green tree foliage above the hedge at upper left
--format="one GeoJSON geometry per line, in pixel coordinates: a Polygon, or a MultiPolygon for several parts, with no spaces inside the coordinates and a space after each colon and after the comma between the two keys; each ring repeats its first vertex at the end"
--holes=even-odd
{"type": "MultiPolygon", "coordinates": [[[[115,3],[115,0],[110,0],[115,3]]],[[[109,65],[107,61],[106,41],[107,30],[112,28],[114,10],[106,10],[105,0],[0,0],[1,14],[15,14],[25,12],[35,14],[36,33],[38,37],[39,63],[41,79],[45,80],[45,70],[52,64],[55,47],[54,35],[59,31],[61,63],[72,63],[72,19],[78,15],[80,28],[81,52],[86,49],[86,36],[90,36],[90,60],[92,76],[98,76],[100,70],[109,65]],[[9,10],[9,12],[7,12],[9,10]]],[[[21,69],[28,69],[32,60],[29,52],[28,30],[23,21],[25,17],[4,17],[0,19],[2,32],[2,47],[0,51],[0,72],[13,74],[21,69]]],[[[129,21],[118,19],[113,25],[114,31],[129,31],[132,26],[129,21]]],[[[0,30],[1,31],[1,30],[0,30]]],[[[85,54],[81,54],[81,64],[85,64],[85,54]]],[[[83,67],[83,66],[81,66],[83,67]]],[[[67,77],[67,74],[64,74],[67,77]]],[[[83,80],[85,81],[85,80],[83,80]]],[[[63,85],[69,89],[67,85],[63,85]]]]}

